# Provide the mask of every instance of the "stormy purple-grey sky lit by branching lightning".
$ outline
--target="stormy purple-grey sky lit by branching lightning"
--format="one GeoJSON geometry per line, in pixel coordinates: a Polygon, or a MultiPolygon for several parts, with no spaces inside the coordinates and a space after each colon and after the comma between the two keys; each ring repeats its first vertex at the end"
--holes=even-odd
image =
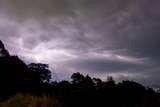
{"type": "Polygon", "coordinates": [[[0,0],[0,40],[53,80],[80,72],[160,88],[160,0],[0,0]]]}

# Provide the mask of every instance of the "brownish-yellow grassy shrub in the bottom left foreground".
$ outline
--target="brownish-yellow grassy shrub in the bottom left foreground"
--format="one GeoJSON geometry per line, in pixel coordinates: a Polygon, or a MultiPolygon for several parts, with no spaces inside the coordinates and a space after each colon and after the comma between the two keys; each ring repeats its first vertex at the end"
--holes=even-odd
{"type": "Polygon", "coordinates": [[[1,102],[0,107],[63,107],[63,104],[57,99],[47,96],[17,94],[7,101],[1,102]]]}

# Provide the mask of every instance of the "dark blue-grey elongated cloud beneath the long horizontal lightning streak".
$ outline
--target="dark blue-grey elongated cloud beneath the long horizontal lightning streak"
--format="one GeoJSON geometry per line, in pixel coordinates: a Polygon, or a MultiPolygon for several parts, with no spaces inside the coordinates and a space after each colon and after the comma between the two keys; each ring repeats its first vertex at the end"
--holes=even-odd
{"type": "MultiPolygon", "coordinates": [[[[138,70],[144,68],[147,64],[145,62],[141,62],[138,59],[123,59],[119,56],[110,55],[110,56],[85,56],[83,59],[79,59],[78,61],[72,62],[74,67],[81,69],[86,72],[126,72],[128,69],[138,70]]],[[[138,72],[134,71],[134,72],[138,72]]],[[[128,71],[133,72],[133,71],[128,71]]]]}

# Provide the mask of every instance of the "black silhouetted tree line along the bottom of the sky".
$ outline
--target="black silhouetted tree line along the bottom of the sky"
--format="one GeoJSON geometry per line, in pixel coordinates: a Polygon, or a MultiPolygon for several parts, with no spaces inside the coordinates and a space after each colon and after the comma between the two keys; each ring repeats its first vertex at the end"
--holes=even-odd
{"type": "Polygon", "coordinates": [[[134,81],[102,81],[79,72],[71,81],[51,81],[49,65],[25,64],[0,41],[0,100],[17,93],[54,96],[65,107],[160,107],[160,93],[134,81]]]}

